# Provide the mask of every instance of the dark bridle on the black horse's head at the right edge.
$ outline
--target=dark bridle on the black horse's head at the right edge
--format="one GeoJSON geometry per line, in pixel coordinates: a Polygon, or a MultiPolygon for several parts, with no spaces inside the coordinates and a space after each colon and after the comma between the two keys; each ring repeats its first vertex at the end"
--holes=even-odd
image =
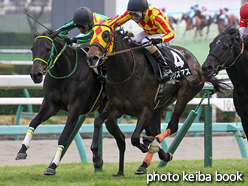
{"type": "MultiPolygon", "coordinates": [[[[231,36],[232,37],[232,36],[231,36]]],[[[218,65],[214,70],[216,72],[216,74],[219,73],[219,71],[223,70],[223,69],[228,69],[230,67],[232,67],[235,63],[237,63],[238,61],[240,61],[243,57],[243,51],[244,51],[244,42],[242,41],[242,45],[240,47],[238,41],[236,40],[236,37],[232,37],[233,38],[233,43],[232,43],[232,46],[230,47],[230,49],[226,52],[226,54],[222,57],[222,59],[220,59],[217,55],[215,55],[215,53],[211,52],[209,53],[210,56],[213,56],[215,57],[219,62],[222,62],[224,61],[224,63],[222,63],[221,65],[218,65]],[[234,47],[237,47],[239,48],[239,54],[237,55],[237,57],[234,59],[234,61],[227,65],[227,62],[228,62],[228,59],[229,59],[229,54],[233,51],[234,47]]]]}

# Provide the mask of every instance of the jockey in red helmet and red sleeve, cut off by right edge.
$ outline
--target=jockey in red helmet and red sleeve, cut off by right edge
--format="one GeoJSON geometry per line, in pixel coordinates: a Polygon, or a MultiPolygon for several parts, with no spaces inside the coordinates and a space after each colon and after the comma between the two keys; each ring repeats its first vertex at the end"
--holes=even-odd
{"type": "MultiPolygon", "coordinates": [[[[243,38],[243,35],[248,32],[247,26],[248,26],[248,2],[244,3],[240,8],[240,27],[239,27],[239,33],[240,38],[243,38]]],[[[248,41],[245,42],[248,44],[248,41]]]]}

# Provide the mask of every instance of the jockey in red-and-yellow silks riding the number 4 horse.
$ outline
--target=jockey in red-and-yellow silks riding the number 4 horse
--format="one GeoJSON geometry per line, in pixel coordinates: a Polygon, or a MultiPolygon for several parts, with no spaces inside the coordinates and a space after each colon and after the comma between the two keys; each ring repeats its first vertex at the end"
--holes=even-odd
{"type": "Polygon", "coordinates": [[[133,40],[142,44],[147,41],[152,42],[153,45],[145,48],[159,63],[161,80],[168,79],[172,75],[172,71],[156,47],[156,45],[163,46],[164,43],[168,45],[175,36],[166,17],[157,8],[148,6],[147,0],[129,0],[127,11],[116,20],[117,26],[121,26],[131,19],[143,28],[143,31],[134,35],[133,40]]]}

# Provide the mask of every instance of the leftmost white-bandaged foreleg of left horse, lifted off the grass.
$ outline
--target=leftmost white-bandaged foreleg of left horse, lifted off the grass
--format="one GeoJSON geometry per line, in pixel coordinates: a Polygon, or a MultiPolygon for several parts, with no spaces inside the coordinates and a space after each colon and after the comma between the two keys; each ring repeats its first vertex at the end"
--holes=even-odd
{"type": "Polygon", "coordinates": [[[46,104],[46,101],[43,101],[43,104],[40,108],[39,113],[35,116],[35,118],[30,122],[28,131],[25,135],[25,138],[22,142],[22,147],[17,153],[16,160],[26,159],[27,157],[27,149],[30,147],[30,142],[32,140],[35,129],[44,121],[46,121],[51,116],[55,115],[58,110],[52,109],[46,104]]]}

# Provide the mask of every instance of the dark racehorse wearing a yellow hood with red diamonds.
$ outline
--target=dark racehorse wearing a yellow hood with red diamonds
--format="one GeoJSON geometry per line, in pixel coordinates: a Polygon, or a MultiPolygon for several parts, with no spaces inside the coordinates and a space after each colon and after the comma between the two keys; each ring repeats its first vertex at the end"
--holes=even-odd
{"type": "MultiPolygon", "coordinates": [[[[186,58],[192,75],[186,77],[187,81],[181,79],[166,83],[162,98],[159,104],[155,105],[154,100],[160,85],[154,78],[150,62],[142,50],[128,49],[127,43],[122,40],[122,34],[114,29],[114,23],[115,19],[95,24],[87,54],[91,67],[96,67],[106,61],[108,72],[105,84],[108,102],[95,120],[91,146],[93,157],[95,160],[98,157],[99,161],[101,157],[97,154],[98,135],[105,120],[116,119],[123,114],[136,116],[138,121],[131,137],[131,143],[142,152],[147,152],[148,146],[140,142],[142,130],[150,128],[152,136],[160,133],[162,113],[166,107],[177,100],[172,119],[168,124],[170,134],[175,133],[178,129],[179,117],[187,103],[202,89],[205,82],[201,66],[194,55],[185,48],[171,46],[179,50],[186,58]]],[[[216,83],[215,88],[220,90],[220,85],[216,83]]],[[[116,131],[116,135],[122,136],[123,134],[116,131]]]]}

